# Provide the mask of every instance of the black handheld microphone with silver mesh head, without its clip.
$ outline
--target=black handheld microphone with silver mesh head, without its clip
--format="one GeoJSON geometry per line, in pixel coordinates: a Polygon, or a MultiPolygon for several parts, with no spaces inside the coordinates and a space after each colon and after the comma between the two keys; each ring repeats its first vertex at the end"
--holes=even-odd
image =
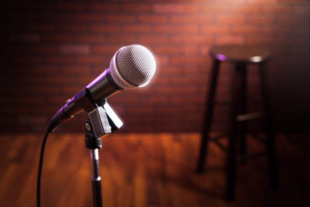
{"type": "MultiPolygon", "coordinates": [[[[155,59],[147,48],[141,45],[122,47],[112,57],[110,67],[82,91],[87,91],[87,95],[92,100],[100,102],[122,90],[136,89],[147,85],[155,70],[155,59]]],[[[77,95],[69,99],[53,116],[47,126],[48,132],[54,131],[59,124],[83,111],[75,103],[77,100],[74,99],[77,99],[77,95]]]]}

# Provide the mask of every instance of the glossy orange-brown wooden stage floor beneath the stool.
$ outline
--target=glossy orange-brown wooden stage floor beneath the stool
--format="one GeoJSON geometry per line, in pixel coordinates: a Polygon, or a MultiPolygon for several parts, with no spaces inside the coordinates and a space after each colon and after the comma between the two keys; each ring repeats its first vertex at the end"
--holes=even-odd
{"type": "MultiPolygon", "coordinates": [[[[266,158],[238,164],[236,199],[224,195],[225,154],[210,144],[196,174],[198,133],[120,134],[99,151],[104,207],[309,206],[307,135],[276,136],[279,190],[268,188],[266,158]]],[[[249,148],[262,146],[248,136],[249,148]]],[[[42,135],[0,135],[0,206],[36,206],[42,135]]],[[[92,206],[91,161],[83,134],[50,134],[42,171],[42,207],[92,206]]]]}

